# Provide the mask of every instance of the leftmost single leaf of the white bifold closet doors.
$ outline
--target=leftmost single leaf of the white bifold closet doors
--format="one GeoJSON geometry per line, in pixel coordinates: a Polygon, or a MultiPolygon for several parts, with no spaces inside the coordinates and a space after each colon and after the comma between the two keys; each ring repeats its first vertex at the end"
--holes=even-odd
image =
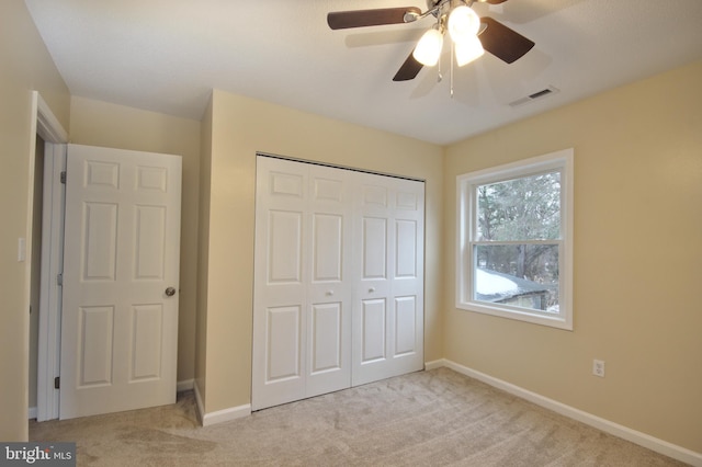
{"type": "Polygon", "coordinates": [[[253,285],[253,410],[305,397],[307,174],[257,158],[253,285]]]}

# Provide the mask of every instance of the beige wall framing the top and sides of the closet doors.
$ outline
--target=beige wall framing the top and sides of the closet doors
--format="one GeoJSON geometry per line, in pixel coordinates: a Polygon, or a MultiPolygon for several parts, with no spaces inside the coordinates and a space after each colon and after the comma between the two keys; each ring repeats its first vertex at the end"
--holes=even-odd
{"type": "Polygon", "coordinates": [[[257,151],[427,180],[424,356],[440,358],[442,148],[215,90],[205,412],[250,402],[257,151]]]}

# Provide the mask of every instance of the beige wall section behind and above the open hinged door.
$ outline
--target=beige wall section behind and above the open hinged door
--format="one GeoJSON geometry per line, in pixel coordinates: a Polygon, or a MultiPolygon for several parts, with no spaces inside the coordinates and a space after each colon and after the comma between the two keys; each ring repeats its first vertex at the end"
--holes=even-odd
{"type": "Polygon", "coordinates": [[[70,141],[182,156],[178,380],[195,377],[200,122],[71,98],[70,141]]]}

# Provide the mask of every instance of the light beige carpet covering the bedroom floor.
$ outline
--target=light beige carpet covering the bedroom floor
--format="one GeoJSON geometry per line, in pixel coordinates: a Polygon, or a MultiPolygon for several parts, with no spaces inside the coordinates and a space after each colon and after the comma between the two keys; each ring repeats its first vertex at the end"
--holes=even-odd
{"type": "Polygon", "coordinates": [[[448,368],[418,372],[202,428],[176,405],[30,423],[104,466],[681,466],[448,368]]]}

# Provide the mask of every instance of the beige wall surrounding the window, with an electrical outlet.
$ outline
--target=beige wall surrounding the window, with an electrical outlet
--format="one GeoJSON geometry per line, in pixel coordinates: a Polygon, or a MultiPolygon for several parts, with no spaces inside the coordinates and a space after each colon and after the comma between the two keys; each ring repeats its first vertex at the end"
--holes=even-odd
{"type": "Polygon", "coordinates": [[[446,358],[702,453],[700,83],[697,62],[448,148],[446,358]],[[569,147],[575,330],[455,309],[455,176],[569,147]]]}

